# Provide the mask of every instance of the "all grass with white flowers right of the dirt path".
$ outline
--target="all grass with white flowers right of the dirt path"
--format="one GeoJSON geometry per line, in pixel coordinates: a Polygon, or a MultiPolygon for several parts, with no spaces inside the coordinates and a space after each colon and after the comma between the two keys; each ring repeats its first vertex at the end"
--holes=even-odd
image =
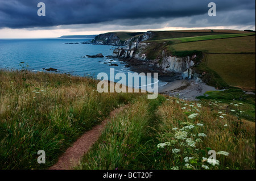
{"type": "Polygon", "coordinates": [[[138,100],[108,123],[100,140],[75,169],[187,170],[204,169],[202,165],[213,170],[255,169],[255,123],[242,120],[241,127],[237,126],[236,116],[221,113],[221,103],[214,105],[163,100],[162,96],[138,100]],[[198,115],[189,119],[192,113],[198,115]],[[187,136],[177,138],[179,131],[187,136]],[[209,150],[226,151],[229,156],[217,154],[220,163],[212,165],[204,161],[209,150]],[[186,157],[193,158],[186,162],[186,157]]]}

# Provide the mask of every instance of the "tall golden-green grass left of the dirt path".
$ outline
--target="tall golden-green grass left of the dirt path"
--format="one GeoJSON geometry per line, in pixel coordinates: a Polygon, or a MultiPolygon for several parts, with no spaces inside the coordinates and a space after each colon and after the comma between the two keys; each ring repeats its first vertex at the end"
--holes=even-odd
{"type": "Polygon", "coordinates": [[[24,74],[0,70],[1,169],[46,169],[113,108],[136,97],[100,94],[91,78],[24,74]],[[38,164],[38,150],[46,151],[46,164],[38,164]]]}

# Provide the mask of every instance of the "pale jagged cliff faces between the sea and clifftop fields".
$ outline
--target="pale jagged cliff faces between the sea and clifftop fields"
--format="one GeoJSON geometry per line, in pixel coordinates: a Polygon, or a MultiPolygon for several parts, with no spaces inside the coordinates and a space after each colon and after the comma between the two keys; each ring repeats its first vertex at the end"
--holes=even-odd
{"type": "Polygon", "coordinates": [[[154,41],[149,41],[154,36],[154,31],[148,31],[122,40],[117,33],[112,32],[98,35],[92,42],[119,46],[113,50],[112,56],[115,58],[127,62],[141,62],[165,73],[179,73],[182,79],[195,79],[197,82],[201,82],[202,75],[196,73],[193,67],[199,63],[203,54],[189,52],[185,56],[176,56],[166,49],[166,45],[170,42],[154,43],[154,41]]]}

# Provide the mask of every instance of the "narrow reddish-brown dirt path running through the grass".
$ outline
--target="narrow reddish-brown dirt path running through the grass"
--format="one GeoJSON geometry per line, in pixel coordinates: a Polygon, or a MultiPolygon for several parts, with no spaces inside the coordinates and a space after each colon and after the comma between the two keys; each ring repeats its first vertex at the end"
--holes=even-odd
{"type": "Polygon", "coordinates": [[[86,132],[80,138],[78,138],[77,141],[74,142],[73,145],[69,147],[63,155],[61,155],[59,161],[55,163],[55,165],[51,166],[49,170],[69,170],[72,169],[72,166],[77,165],[82,155],[84,155],[94,144],[94,142],[98,140],[109,119],[127,107],[128,105],[110,112],[109,117],[102,121],[100,125],[93,127],[92,130],[86,132]]]}

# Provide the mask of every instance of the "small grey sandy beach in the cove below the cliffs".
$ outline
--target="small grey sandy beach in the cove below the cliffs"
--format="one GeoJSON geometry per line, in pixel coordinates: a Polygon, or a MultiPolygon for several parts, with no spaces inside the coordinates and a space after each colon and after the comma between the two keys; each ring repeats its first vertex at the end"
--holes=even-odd
{"type": "Polygon", "coordinates": [[[185,100],[198,100],[196,96],[204,95],[207,91],[216,90],[215,87],[208,86],[204,82],[183,79],[168,82],[166,85],[159,87],[158,92],[170,96],[179,96],[179,98],[185,100]]]}

